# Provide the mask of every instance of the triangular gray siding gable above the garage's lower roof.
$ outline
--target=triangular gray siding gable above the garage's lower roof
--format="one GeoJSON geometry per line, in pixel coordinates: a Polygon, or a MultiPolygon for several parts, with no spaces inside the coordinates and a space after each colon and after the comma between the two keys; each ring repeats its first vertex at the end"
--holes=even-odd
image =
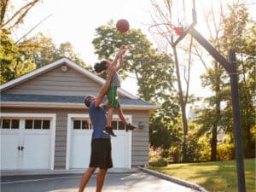
{"type": "Polygon", "coordinates": [[[102,84],[85,77],[83,74],[68,67],[67,72],[62,72],[61,67],[56,67],[47,73],[41,74],[34,79],[19,84],[6,94],[34,94],[54,96],[86,96],[96,95],[102,84]]]}

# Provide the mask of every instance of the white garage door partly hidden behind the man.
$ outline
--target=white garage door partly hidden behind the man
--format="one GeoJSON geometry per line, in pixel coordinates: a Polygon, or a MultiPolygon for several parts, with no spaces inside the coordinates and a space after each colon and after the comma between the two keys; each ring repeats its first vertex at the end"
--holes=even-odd
{"type": "MultiPolygon", "coordinates": [[[[69,123],[70,151],[67,167],[86,168],[90,163],[90,142],[93,131],[90,119],[70,116],[69,123]]],[[[123,123],[115,116],[113,127],[118,136],[111,139],[113,167],[129,168],[131,167],[131,131],[126,132],[123,123]]]]}

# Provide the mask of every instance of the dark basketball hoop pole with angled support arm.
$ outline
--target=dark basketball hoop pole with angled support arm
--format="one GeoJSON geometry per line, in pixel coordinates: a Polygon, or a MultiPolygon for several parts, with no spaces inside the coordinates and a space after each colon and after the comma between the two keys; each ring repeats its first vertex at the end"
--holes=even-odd
{"type": "Polygon", "coordinates": [[[218,53],[218,50],[214,49],[206,38],[204,38],[194,28],[196,25],[196,11],[195,0],[193,0],[192,9],[193,22],[184,30],[183,34],[177,38],[175,42],[172,42],[172,47],[176,49],[176,45],[189,33],[195,40],[201,44],[204,49],[207,49],[210,55],[220,63],[222,67],[230,74],[230,88],[232,97],[232,113],[233,113],[233,129],[235,136],[235,150],[236,150],[236,174],[237,174],[237,191],[246,192],[245,175],[244,175],[244,160],[243,160],[243,148],[242,148],[242,136],[241,136],[241,116],[239,106],[239,92],[238,92],[238,77],[236,69],[236,52],[235,50],[229,50],[229,59],[226,61],[223,55],[218,53]]]}

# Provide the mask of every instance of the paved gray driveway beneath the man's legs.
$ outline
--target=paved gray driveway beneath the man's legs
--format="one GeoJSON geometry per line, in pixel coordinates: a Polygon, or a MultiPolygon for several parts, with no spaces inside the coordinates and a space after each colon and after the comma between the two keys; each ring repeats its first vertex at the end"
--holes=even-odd
{"type": "MultiPolygon", "coordinates": [[[[1,192],[77,192],[82,174],[2,177],[1,192]]],[[[96,175],[86,192],[94,192],[96,175]]],[[[146,172],[108,173],[102,192],[195,192],[146,172]]]]}

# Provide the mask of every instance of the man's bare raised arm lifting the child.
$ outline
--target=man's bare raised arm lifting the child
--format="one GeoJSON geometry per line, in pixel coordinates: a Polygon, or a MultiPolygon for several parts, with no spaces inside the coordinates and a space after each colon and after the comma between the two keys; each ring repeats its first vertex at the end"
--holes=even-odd
{"type": "Polygon", "coordinates": [[[115,70],[114,68],[110,68],[108,70],[108,77],[105,81],[105,84],[102,85],[102,88],[98,94],[98,96],[96,97],[96,100],[95,100],[95,107],[99,107],[100,104],[102,103],[102,100],[104,98],[104,96],[106,95],[107,91],[108,91],[108,88],[109,88],[109,84],[111,82],[111,79],[113,78],[113,74],[115,73],[115,70]]]}

